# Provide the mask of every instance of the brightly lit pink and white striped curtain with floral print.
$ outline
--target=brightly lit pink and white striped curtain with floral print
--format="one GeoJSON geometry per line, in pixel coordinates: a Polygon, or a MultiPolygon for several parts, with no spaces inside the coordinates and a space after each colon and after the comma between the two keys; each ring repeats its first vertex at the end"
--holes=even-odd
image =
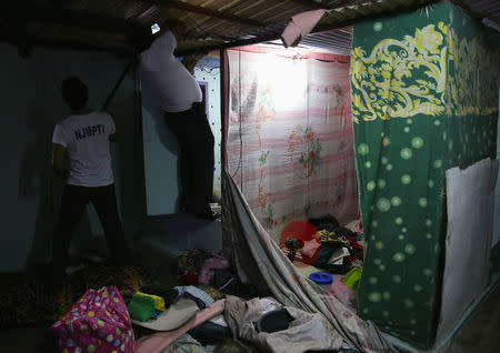
{"type": "Polygon", "coordinates": [[[227,169],[277,242],[291,221],[358,219],[349,58],[289,52],[228,50],[227,169]]]}

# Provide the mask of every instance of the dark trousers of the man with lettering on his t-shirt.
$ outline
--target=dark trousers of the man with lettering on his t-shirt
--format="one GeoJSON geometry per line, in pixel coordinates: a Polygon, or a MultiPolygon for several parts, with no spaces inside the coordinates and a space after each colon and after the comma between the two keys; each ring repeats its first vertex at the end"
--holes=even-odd
{"type": "Polygon", "coordinates": [[[53,284],[60,285],[64,279],[64,270],[69,262],[69,246],[78,223],[91,202],[104,229],[110,260],[114,264],[128,260],[120,216],[118,215],[114,184],[99,188],[66,185],[62,194],[59,223],[52,240],[52,275],[53,284]]]}

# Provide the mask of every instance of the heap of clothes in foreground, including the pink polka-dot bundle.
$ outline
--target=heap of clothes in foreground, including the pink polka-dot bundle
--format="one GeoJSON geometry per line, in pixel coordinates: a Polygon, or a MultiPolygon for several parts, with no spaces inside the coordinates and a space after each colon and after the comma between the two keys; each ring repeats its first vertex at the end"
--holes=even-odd
{"type": "Polygon", "coordinates": [[[273,297],[216,301],[196,286],[147,286],[128,304],[116,286],[89,290],[51,333],[58,349],[71,353],[302,353],[338,351],[343,343],[319,313],[273,297]]]}

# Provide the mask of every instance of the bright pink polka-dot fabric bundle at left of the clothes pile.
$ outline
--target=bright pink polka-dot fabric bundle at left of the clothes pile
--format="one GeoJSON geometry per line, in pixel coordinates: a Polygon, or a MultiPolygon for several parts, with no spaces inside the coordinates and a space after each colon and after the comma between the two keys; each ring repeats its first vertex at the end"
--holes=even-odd
{"type": "Polygon", "coordinates": [[[127,305],[116,286],[87,291],[51,330],[62,353],[138,352],[127,305]]]}

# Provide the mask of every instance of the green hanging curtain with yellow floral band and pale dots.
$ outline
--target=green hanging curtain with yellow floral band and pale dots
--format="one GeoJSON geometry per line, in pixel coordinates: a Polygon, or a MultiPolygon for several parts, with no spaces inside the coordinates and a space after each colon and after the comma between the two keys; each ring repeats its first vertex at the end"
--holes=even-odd
{"type": "Polygon", "coordinates": [[[360,315],[424,347],[441,301],[444,171],[496,151],[499,57],[481,36],[447,2],[354,24],[352,112],[368,241],[360,315]]]}

